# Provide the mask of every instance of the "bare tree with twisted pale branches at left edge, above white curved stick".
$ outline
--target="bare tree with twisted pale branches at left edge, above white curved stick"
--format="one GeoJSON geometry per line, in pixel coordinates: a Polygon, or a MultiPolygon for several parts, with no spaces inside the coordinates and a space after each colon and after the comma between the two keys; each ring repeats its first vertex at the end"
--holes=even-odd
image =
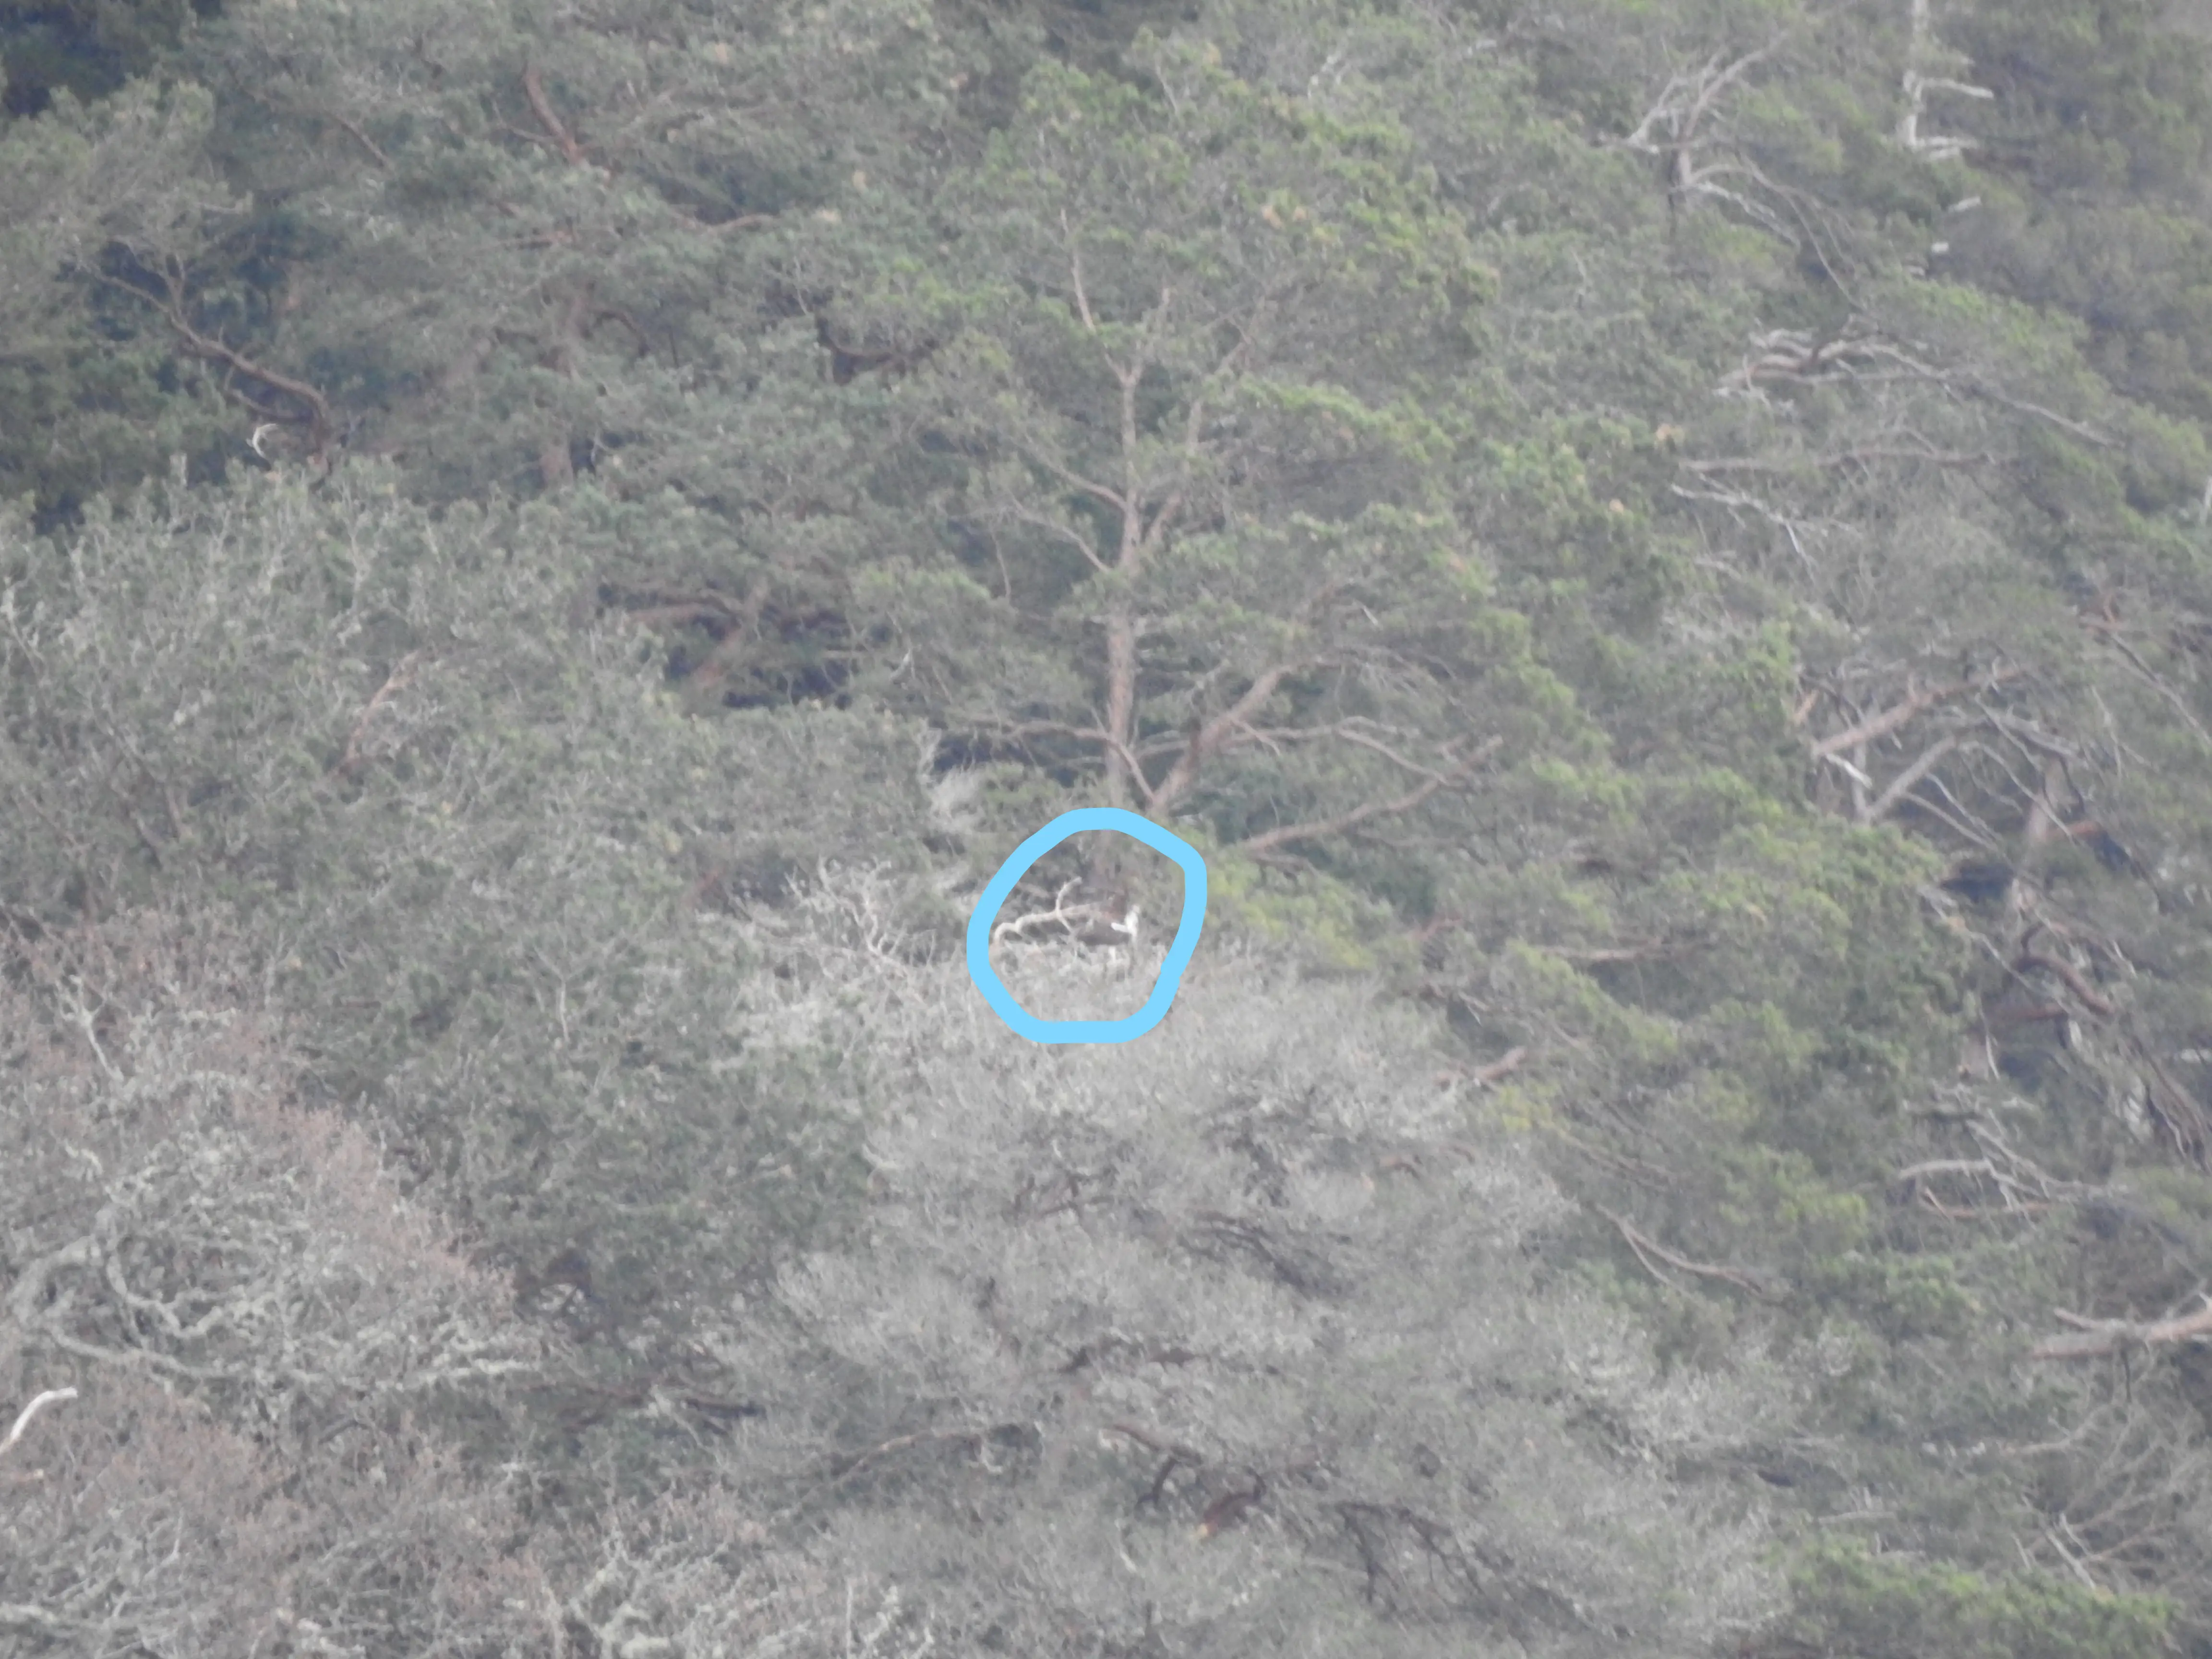
{"type": "Polygon", "coordinates": [[[345,1409],[533,1369],[498,1285],[398,1203],[210,909],[49,940],[9,989],[9,1340],[137,1365],[285,1451],[345,1409]]]}

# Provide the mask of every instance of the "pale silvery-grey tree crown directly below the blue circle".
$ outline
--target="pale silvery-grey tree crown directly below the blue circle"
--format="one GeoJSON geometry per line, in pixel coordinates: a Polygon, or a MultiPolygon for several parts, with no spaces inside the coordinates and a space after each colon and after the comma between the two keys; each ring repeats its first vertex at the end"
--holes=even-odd
{"type": "Polygon", "coordinates": [[[874,1199],[710,1338],[768,1400],[721,1467],[940,1641],[1697,1652],[1770,1608],[1756,1502],[1672,1473],[1790,1389],[1661,1376],[1546,1261],[1571,1206],[1427,1022],[1217,958],[1139,1044],[1035,1046],[843,931],[774,1006],[876,1057],[874,1199]]]}

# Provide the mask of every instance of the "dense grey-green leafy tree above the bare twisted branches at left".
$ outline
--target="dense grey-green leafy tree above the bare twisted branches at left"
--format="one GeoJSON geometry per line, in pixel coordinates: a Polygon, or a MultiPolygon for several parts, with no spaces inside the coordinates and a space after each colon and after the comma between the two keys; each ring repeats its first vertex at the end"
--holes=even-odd
{"type": "Polygon", "coordinates": [[[310,1095],[383,1126],[495,1256],[580,1252],[580,1321],[639,1349],[836,1208],[843,1044],[745,1053],[726,911],[823,860],[911,863],[909,732],[688,719],[648,641],[571,630],[544,513],[431,518],[356,476],[157,489],[60,555],[15,535],[20,927],[232,907],[310,1095]]]}

